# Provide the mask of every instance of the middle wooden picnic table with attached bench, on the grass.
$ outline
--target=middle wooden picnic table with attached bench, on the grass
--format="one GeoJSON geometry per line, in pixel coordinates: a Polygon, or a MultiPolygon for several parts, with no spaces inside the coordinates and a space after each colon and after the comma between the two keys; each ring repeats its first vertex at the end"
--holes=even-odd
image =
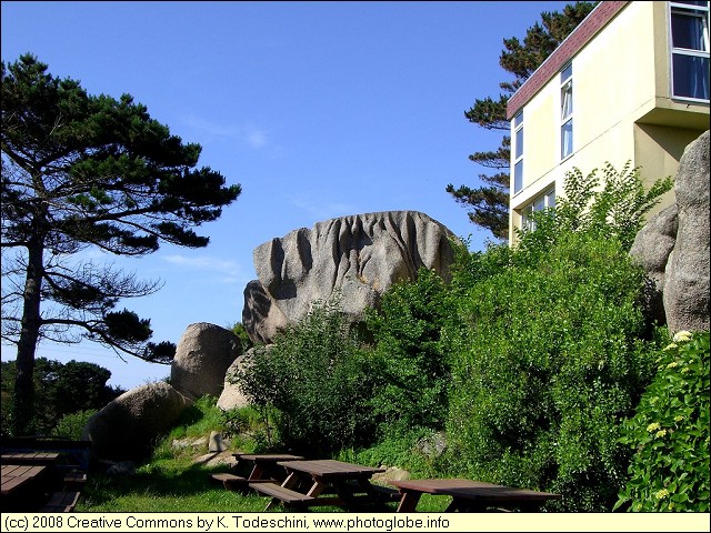
{"type": "Polygon", "coordinates": [[[271,496],[267,509],[278,502],[288,506],[336,505],[351,509],[358,503],[382,503],[383,494],[370,479],[384,469],[334,460],[281,461],[289,472],[281,485],[250,483],[257,492],[271,496]],[[327,489],[331,491],[327,492],[327,489]],[[331,494],[336,495],[331,495],[331,494]],[[328,495],[324,495],[328,494],[328,495]]]}

